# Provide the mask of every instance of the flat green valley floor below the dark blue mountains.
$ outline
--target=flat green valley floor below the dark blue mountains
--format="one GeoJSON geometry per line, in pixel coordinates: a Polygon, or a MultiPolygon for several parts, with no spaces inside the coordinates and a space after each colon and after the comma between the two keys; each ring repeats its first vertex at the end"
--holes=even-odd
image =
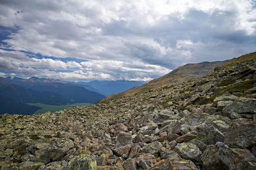
{"type": "Polygon", "coordinates": [[[30,106],[39,106],[41,109],[37,110],[35,114],[45,113],[47,111],[51,111],[52,113],[55,111],[65,110],[68,108],[76,107],[76,106],[88,106],[90,103],[75,103],[75,104],[66,104],[66,105],[49,105],[42,103],[27,103],[30,106]]]}

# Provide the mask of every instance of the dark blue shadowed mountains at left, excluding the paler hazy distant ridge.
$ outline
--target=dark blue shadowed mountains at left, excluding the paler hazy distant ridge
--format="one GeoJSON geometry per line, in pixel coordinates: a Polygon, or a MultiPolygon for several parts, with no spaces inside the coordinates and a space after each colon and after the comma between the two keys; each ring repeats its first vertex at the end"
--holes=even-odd
{"type": "Polygon", "coordinates": [[[32,114],[40,109],[26,103],[65,105],[74,103],[96,103],[104,99],[101,94],[84,89],[68,81],[46,78],[0,78],[0,114],[32,114]],[[12,103],[12,104],[10,104],[12,103]]]}

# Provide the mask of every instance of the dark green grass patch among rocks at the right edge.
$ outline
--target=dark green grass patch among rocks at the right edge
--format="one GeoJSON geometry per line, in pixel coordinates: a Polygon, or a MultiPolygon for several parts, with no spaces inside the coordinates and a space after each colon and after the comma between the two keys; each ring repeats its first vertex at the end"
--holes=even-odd
{"type": "Polygon", "coordinates": [[[256,79],[252,80],[247,80],[244,81],[243,83],[238,83],[236,85],[228,85],[225,90],[228,92],[241,92],[243,93],[244,91],[250,89],[253,87],[253,84],[256,83],[256,79]]]}

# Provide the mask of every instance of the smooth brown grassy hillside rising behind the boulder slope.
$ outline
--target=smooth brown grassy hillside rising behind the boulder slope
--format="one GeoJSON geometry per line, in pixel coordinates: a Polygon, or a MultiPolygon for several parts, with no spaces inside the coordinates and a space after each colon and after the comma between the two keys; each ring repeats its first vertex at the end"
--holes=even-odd
{"type": "Polygon", "coordinates": [[[230,60],[225,61],[216,61],[216,62],[200,62],[196,64],[186,64],[180,66],[177,69],[174,69],[170,73],[156,78],[140,87],[134,87],[125,92],[118,94],[113,94],[106,97],[102,101],[107,101],[111,99],[116,99],[122,96],[129,96],[132,94],[137,94],[139,92],[147,92],[148,90],[154,90],[173,84],[181,83],[183,81],[193,80],[194,78],[205,76],[206,74],[211,73],[215,67],[221,67],[224,64],[227,64],[230,60]]]}

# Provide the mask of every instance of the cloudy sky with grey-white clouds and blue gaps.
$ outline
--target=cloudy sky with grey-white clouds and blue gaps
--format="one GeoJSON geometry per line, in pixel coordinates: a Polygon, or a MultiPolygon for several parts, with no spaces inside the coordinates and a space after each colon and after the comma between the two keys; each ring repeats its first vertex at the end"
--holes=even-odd
{"type": "Polygon", "coordinates": [[[151,80],[256,51],[251,0],[1,0],[0,76],[151,80]]]}

